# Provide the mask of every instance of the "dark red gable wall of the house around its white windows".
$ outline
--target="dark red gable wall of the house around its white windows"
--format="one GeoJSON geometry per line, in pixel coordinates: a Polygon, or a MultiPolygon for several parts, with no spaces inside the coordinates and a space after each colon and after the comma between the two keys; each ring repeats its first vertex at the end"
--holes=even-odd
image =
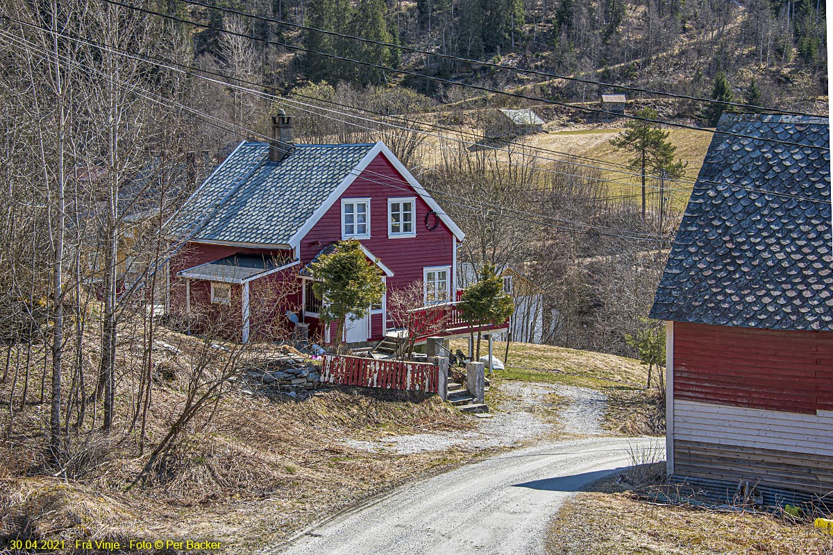
{"type": "MultiPolygon", "coordinates": [[[[373,255],[393,272],[387,278],[388,290],[422,280],[426,266],[452,265],[454,235],[442,222],[435,230],[427,230],[425,217],[431,208],[407,184],[402,175],[381,154],[347,187],[341,198],[370,197],[371,238],[362,239],[373,255]],[[403,191],[404,190],[404,191],[403,191]],[[387,200],[389,198],[416,196],[414,229],[416,237],[388,239],[387,200]]],[[[306,265],[322,248],[342,239],[342,202],[337,200],[321,220],[301,241],[301,264],[306,265]]],[[[429,218],[434,225],[434,217],[429,218]]],[[[453,272],[453,268],[451,268],[453,272]]],[[[449,276],[451,279],[451,276],[449,276]]],[[[454,285],[451,285],[454,290],[454,285]]],[[[382,317],[372,318],[372,338],[382,336],[382,317]]]]}

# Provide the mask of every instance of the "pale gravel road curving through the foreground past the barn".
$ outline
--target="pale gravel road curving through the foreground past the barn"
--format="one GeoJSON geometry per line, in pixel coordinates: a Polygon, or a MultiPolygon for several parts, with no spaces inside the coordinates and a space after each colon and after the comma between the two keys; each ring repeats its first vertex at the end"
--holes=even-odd
{"type": "Polygon", "coordinates": [[[307,529],[285,555],[544,553],[546,525],[582,485],[631,463],[651,439],[520,448],[402,488],[307,529]]]}

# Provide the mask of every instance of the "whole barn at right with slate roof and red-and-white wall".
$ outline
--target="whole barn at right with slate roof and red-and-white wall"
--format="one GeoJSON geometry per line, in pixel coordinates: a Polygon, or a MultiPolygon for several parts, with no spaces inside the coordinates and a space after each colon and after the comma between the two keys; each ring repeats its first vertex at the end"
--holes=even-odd
{"type": "Polygon", "coordinates": [[[651,309],[676,478],[831,500],[830,171],[826,117],[721,117],[651,309]]]}

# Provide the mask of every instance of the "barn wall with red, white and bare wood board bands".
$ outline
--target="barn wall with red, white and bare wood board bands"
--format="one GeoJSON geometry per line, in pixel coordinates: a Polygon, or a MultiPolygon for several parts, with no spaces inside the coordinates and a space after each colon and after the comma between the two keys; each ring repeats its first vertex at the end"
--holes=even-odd
{"type": "Polygon", "coordinates": [[[675,322],[673,468],[833,491],[833,332],[675,322]]]}

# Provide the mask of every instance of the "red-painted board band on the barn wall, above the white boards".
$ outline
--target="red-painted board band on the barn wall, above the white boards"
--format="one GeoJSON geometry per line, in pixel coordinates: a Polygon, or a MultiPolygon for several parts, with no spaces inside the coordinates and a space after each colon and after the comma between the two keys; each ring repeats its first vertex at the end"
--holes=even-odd
{"type": "Polygon", "coordinates": [[[833,332],[674,323],[674,396],[754,409],[833,409],[833,332]]]}

